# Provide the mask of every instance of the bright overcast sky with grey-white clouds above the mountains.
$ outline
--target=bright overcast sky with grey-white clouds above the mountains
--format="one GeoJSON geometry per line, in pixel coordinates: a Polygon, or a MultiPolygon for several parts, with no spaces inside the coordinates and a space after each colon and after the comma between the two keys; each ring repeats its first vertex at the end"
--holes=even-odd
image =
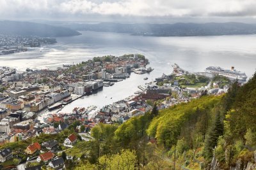
{"type": "Polygon", "coordinates": [[[254,20],[256,0],[0,0],[1,20],[100,18],[254,20]]]}

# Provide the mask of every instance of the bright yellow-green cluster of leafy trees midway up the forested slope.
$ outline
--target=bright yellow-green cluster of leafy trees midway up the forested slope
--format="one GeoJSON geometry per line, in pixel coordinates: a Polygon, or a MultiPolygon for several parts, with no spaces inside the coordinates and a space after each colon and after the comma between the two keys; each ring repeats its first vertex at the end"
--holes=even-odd
{"type": "MultiPolygon", "coordinates": [[[[165,148],[170,148],[177,143],[177,138],[180,136],[183,125],[188,125],[185,128],[194,128],[193,124],[188,122],[191,122],[192,118],[197,118],[200,115],[196,108],[201,108],[202,110],[204,108],[213,108],[214,104],[218,103],[218,101],[220,101],[220,97],[205,96],[188,104],[183,103],[161,110],[159,116],[150,122],[147,134],[156,138],[157,143],[164,145],[165,148]]],[[[195,124],[196,120],[194,121],[195,124]]],[[[187,134],[189,133],[185,129],[184,131],[187,134]]]]}

